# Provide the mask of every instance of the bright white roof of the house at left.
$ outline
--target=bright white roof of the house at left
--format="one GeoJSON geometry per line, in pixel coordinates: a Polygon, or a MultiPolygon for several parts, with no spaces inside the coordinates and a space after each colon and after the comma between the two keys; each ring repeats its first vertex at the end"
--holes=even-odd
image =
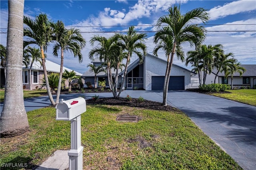
{"type": "MultiPolygon", "coordinates": [[[[57,63],[47,60],[47,61],[45,61],[45,66],[46,66],[46,70],[49,72],[60,72],[60,65],[57,63]]],[[[30,65],[28,66],[28,68],[26,68],[26,66],[22,66],[22,69],[29,69],[29,67],[30,67],[30,65]]],[[[43,70],[43,66],[41,66],[41,64],[38,61],[35,61],[32,64],[32,70],[43,70]]],[[[64,70],[68,70],[69,72],[72,71],[71,69],[63,66],[63,72],[64,72],[64,70]]],[[[76,75],[82,76],[82,74],[80,72],[76,72],[76,75]]]]}

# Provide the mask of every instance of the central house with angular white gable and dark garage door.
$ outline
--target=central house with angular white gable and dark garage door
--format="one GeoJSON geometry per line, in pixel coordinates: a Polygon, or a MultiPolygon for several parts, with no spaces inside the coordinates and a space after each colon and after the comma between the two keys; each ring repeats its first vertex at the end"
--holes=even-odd
{"type": "MultiPolygon", "coordinates": [[[[94,64],[98,61],[92,62],[94,64]]],[[[134,61],[128,66],[126,78],[122,77],[124,70],[119,73],[118,82],[125,81],[125,88],[143,88],[145,90],[163,90],[164,76],[166,72],[167,61],[160,59],[156,56],[147,54],[144,57],[144,62],[139,64],[139,59],[134,61]]],[[[114,73],[114,72],[112,72],[114,73]]],[[[172,70],[170,75],[169,90],[186,90],[191,88],[191,75],[196,74],[186,68],[172,64],[172,70]]],[[[86,71],[82,78],[85,82],[94,82],[94,73],[89,70],[86,71]]],[[[106,80],[107,74],[102,72],[97,75],[98,80],[106,80]]],[[[106,83],[108,84],[108,82],[106,83]]]]}

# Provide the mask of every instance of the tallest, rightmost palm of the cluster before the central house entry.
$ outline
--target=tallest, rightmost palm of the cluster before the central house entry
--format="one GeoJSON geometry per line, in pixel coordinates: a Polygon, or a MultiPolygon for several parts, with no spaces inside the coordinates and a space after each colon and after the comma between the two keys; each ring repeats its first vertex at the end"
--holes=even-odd
{"type": "MultiPolygon", "coordinates": [[[[140,63],[143,62],[143,57],[146,55],[146,45],[145,40],[147,39],[147,35],[145,33],[137,33],[136,30],[134,30],[134,26],[129,27],[128,32],[126,35],[124,34],[117,34],[119,37],[119,43],[118,45],[124,49],[124,51],[127,53],[127,59],[126,59],[126,65],[124,68],[124,77],[126,77],[127,74],[127,68],[130,64],[130,59],[132,57],[132,53],[135,53],[139,59],[140,63]],[[142,51],[142,52],[141,52],[142,51]]],[[[122,92],[122,88],[124,87],[124,81],[121,84],[118,96],[120,96],[122,92]]]]}

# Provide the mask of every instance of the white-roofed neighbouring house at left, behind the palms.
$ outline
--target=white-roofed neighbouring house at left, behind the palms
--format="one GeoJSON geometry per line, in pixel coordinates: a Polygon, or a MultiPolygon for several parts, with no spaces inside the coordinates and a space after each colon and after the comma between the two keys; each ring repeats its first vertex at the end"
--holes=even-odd
{"type": "MultiPolygon", "coordinates": [[[[53,72],[60,72],[60,65],[56,64],[52,61],[46,61],[45,62],[46,70],[48,74],[53,73],[53,72]]],[[[29,84],[29,67],[26,68],[25,66],[22,67],[22,78],[23,78],[23,87],[24,89],[29,89],[30,84],[29,84]]],[[[72,71],[69,68],[63,67],[64,70],[72,71]]],[[[44,71],[43,67],[39,62],[34,62],[32,64],[32,89],[39,88],[41,86],[41,79],[43,78],[44,71]]],[[[82,74],[79,72],[76,72],[76,75],[81,76],[82,74]]],[[[68,82],[65,83],[66,87],[68,87],[68,82]]]]}

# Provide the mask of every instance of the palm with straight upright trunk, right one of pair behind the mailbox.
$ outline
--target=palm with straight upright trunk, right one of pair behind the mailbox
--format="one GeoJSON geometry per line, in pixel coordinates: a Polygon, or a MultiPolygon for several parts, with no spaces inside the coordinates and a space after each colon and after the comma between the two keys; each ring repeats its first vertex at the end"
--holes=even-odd
{"type": "Polygon", "coordinates": [[[60,50],[60,80],[59,86],[56,96],[55,103],[59,103],[60,99],[60,89],[61,89],[61,80],[62,80],[62,73],[63,73],[63,63],[64,63],[64,53],[70,51],[74,54],[74,57],[78,57],[79,63],[82,62],[83,57],[81,50],[85,46],[85,39],[82,37],[79,29],[66,29],[64,27],[64,23],[62,21],[57,21],[57,23],[52,23],[53,27],[53,35],[52,39],[56,41],[53,47],[53,54],[54,56],[58,57],[58,51],[60,50]]]}

